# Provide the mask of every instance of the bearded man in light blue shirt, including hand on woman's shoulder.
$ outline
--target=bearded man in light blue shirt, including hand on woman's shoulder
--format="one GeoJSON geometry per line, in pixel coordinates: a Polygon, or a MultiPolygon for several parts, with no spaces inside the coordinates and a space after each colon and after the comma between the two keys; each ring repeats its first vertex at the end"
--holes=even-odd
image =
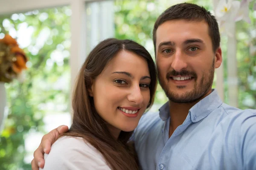
{"type": "MultiPolygon", "coordinates": [[[[205,8],[181,3],[158,17],[153,31],[160,85],[169,98],[146,113],[134,132],[143,170],[256,169],[256,111],[233,108],[212,89],[222,62],[218,23],[205,8]]],[[[67,127],[45,135],[32,161],[67,127]]],[[[46,148],[46,150],[44,150],[46,148]]]]}

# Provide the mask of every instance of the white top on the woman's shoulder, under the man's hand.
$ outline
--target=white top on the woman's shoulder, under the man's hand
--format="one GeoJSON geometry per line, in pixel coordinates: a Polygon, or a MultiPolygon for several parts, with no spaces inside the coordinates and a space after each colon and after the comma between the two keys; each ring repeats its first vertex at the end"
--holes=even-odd
{"type": "Polygon", "coordinates": [[[102,154],[82,138],[64,136],[44,154],[40,170],[111,170],[102,154]]]}

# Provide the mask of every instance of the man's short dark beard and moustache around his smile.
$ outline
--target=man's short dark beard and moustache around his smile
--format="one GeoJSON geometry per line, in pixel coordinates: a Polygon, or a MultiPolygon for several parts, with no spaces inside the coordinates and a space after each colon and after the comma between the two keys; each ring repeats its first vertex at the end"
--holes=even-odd
{"type": "MultiPolygon", "coordinates": [[[[207,92],[209,91],[209,89],[212,87],[212,82],[213,82],[213,78],[214,78],[214,65],[215,65],[215,60],[213,60],[211,68],[209,69],[209,71],[203,71],[202,72],[202,79],[201,81],[198,83],[197,82],[197,74],[193,71],[180,71],[177,72],[175,70],[169,72],[166,75],[166,79],[167,81],[169,81],[170,76],[192,76],[195,79],[195,85],[194,88],[191,91],[186,91],[183,94],[178,94],[175,91],[171,91],[169,90],[169,87],[167,84],[165,84],[165,81],[160,79],[160,74],[158,75],[158,80],[159,83],[161,85],[161,87],[163,88],[163,91],[165,92],[166,96],[168,97],[168,99],[172,102],[175,103],[192,103],[195,101],[198,101],[199,99],[203,98],[205,94],[207,94],[207,92]]],[[[159,71],[158,71],[159,73],[159,71]]],[[[186,88],[186,86],[177,86],[177,88],[186,88]]]]}

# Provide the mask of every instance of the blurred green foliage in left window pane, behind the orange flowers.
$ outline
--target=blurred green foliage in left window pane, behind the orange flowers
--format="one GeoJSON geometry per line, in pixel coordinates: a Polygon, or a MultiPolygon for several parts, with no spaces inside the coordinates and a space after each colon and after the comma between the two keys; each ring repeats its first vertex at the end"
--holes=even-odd
{"type": "Polygon", "coordinates": [[[24,82],[6,85],[9,114],[0,136],[0,170],[31,169],[27,153],[33,141],[25,139],[46,133],[46,113],[69,111],[70,14],[61,7],[0,18],[0,37],[3,30],[17,37],[29,57],[24,82]]]}

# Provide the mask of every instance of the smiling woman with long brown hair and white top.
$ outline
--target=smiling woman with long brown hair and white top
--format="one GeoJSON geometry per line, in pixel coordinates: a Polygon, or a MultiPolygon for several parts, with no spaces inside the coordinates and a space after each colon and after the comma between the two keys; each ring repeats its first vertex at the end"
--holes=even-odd
{"type": "Polygon", "coordinates": [[[137,170],[127,142],[153,104],[156,87],[154,61],[143,46],[100,42],[77,78],[73,124],[44,156],[44,170],[137,170]]]}

